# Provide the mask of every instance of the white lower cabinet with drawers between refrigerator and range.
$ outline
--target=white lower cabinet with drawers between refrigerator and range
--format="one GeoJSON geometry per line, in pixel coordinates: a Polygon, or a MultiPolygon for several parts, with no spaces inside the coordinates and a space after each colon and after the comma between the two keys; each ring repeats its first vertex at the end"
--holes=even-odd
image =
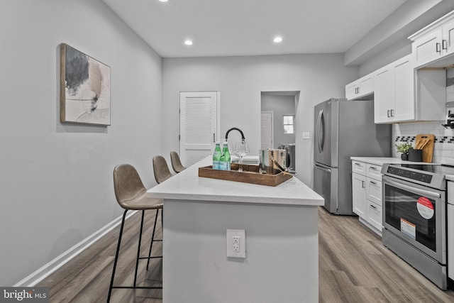
{"type": "Polygon", "coordinates": [[[382,166],[353,160],[353,212],[360,222],[382,236],[382,166]],[[364,167],[364,170],[358,170],[364,167]]]}

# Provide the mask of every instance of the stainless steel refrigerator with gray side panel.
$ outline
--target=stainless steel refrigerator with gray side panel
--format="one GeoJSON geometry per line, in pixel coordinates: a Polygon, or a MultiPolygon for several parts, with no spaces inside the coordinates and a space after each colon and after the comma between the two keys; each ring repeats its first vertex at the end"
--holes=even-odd
{"type": "Polygon", "coordinates": [[[350,157],[389,157],[391,126],[374,123],[373,100],[329,99],[314,109],[314,187],[333,214],[352,215],[350,157]]]}

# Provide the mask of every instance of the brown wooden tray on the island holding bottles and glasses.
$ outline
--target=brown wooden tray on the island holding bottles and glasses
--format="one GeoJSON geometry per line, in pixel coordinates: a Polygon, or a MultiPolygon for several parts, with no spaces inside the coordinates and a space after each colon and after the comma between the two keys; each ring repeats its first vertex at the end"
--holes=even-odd
{"type": "Polygon", "coordinates": [[[232,163],[231,170],[214,170],[213,166],[199,167],[199,177],[236,181],[267,186],[277,186],[292,179],[287,172],[275,171],[275,174],[261,174],[258,165],[243,164],[243,172],[238,172],[238,164],[232,163]]]}

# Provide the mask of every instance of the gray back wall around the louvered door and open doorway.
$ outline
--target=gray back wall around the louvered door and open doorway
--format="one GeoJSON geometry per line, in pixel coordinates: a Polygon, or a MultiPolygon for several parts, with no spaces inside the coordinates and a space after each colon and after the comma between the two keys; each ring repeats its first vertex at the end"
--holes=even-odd
{"type": "Polygon", "coordinates": [[[344,67],[342,54],[165,58],[162,64],[164,150],[179,150],[179,92],[221,92],[221,136],[233,126],[242,129],[251,155],[260,148],[261,92],[300,92],[295,162],[309,186],[314,143],[303,141],[302,132],[314,135],[314,105],[345,96],[345,84],[358,79],[358,67],[344,67]]]}

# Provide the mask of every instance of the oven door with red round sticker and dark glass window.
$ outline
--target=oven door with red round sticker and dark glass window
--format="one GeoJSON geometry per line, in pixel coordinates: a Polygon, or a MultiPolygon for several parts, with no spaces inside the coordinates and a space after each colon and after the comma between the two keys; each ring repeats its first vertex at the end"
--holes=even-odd
{"type": "Polygon", "coordinates": [[[383,176],[383,226],[446,264],[445,192],[383,176]]]}

